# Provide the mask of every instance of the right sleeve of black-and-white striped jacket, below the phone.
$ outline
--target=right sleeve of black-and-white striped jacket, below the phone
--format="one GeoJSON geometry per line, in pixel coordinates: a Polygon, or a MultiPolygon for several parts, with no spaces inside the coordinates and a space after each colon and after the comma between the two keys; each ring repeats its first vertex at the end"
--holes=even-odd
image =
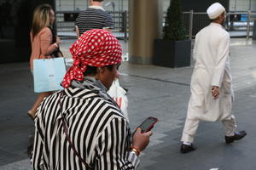
{"type": "Polygon", "coordinates": [[[136,170],[139,159],[130,151],[130,128],[122,117],[115,117],[97,140],[96,170],[136,170]]]}

